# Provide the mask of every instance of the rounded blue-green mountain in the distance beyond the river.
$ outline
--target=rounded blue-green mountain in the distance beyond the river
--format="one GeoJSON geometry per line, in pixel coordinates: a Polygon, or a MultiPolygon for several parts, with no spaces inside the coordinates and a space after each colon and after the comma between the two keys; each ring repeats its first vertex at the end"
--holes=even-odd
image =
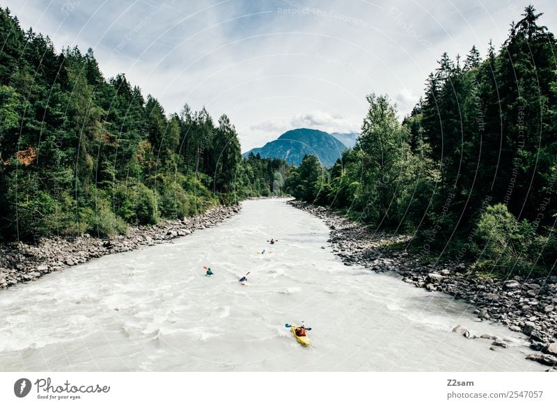
{"type": "Polygon", "coordinates": [[[332,166],[345,149],[345,144],[328,132],[298,128],[243,155],[246,157],[249,153],[259,153],[263,158],[282,158],[288,164],[299,165],[304,155],[308,154],[317,156],[323,166],[332,166]]]}

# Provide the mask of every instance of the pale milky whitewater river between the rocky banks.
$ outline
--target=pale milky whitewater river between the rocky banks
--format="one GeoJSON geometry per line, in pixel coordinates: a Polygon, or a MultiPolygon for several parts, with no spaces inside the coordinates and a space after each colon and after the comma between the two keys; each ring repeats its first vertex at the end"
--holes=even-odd
{"type": "Polygon", "coordinates": [[[524,359],[521,335],[452,297],[346,267],[328,237],[284,199],[246,201],[219,227],[2,291],[0,370],[544,369],[524,359]],[[313,348],[284,327],[301,320],[313,348]],[[516,345],[491,351],[453,333],[459,324],[516,345]]]}

